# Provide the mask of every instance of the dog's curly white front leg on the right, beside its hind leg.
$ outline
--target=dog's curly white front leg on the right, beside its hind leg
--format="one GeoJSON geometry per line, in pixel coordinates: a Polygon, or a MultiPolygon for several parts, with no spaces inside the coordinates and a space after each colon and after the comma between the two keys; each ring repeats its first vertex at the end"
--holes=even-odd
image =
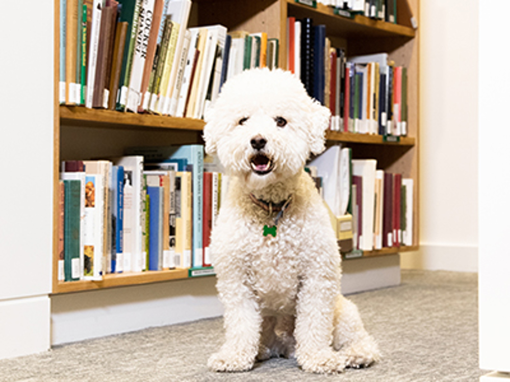
{"type": "Polygon", "coordinates": [[[323,275],[303,280],[294,336],[297,362],[305,371],[335,373],[346,366],[346,357],[331,346],[337,293],[336,282],[323,275]]]}

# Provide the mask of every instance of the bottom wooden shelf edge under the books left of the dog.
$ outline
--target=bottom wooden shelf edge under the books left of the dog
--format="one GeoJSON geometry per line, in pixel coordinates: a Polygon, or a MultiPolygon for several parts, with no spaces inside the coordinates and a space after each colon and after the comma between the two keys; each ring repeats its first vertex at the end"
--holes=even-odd
{"type": "Polygon", "coordinates": [[[188,269],[146,271],[139,273],[126,272],[125,274],[106,275],[101,281],[80,280],[58,282],[54,286],[52,294],[108,289],[120,286],[142,285],[161,281],[185,279],[188,279],[188,269]]]}

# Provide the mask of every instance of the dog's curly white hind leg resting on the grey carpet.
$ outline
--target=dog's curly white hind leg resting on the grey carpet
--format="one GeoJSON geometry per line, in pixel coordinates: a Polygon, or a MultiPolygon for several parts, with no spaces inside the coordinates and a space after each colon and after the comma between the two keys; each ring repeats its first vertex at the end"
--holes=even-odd
{"type": "Polygon", "coordinates": [[[347,360],[347,367],[365,367],[378,361],[380,353],[375,340],[363,326],[358,308],[339,295],[335,307],[333,347],[347,360]]]}

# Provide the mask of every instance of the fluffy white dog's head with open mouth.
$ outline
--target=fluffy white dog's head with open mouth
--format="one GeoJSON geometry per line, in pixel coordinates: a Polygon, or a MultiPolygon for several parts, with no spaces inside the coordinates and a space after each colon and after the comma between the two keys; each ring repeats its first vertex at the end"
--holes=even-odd
{"type": "Polygon", "coordinates": [[[296,174],[324,150],[329,110],[283,70],[253,69],[228,80],[206,113],[206,152],[260,189],[296,174]]]}

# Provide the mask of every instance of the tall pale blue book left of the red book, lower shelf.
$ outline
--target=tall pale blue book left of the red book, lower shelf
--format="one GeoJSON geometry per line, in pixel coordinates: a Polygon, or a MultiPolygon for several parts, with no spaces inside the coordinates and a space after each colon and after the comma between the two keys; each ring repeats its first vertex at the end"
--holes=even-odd
{"type": "Polygon", "coordinates": [[[202,193],[203,193],[203,145],[135,147],[127,149],[129,155],[143,155],[148,162],[164,162],[168,159],[185,158],[188,165],[193,166],[192,194],[193,194],[193,242],[192,266],[203,265],[202,248],[202,193]]]}

